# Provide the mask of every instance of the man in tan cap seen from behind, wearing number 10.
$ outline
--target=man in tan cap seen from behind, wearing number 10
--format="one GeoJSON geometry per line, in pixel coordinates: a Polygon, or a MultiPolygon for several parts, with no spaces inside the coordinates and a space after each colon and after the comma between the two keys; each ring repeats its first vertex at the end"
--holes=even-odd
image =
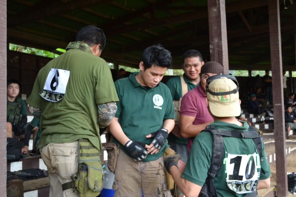
{"type": "MultiPolygon", "coordinates": [[[[217,133],[227,130],[231,136],[237,133],[241,135],[244,132],[245,135],[237,137],[223,137],[221,167],[218,172],[216,171],[218,175],[212,176],[215,190],[212,190],[213,188],[209,190],[215,191],[218,197],[246,194],[257,196],[257,189],[269,188],[270,167],[264,143],[260,141],[258,132],[251,131],[254,128],[249,130],[247,122],[240,122],[235,118],[241,113],[238,83],[233,76],[216,75],[207,79],[207,87],[206,102],[214,122],[207,126],[207,131],[201,132],[194,139],[183,173],[177,167],[178,156],[167,156],[165,167],[186,197],[198,196],[201,190],[205,191],[204,184],[210,185],[211,159],[218,157],[212,154],[213,148],[216,147],[213,146],[213,140],[216,138],[214,139],[209,132],[210,128],[215,129],[217,133]],[[254,139],[246,137],[251,134],[250,132],[257,134],[256,140],[259,140],[257,144],[254,143],[255,137],[254,139]]],[[[218,136],[221,137],[219,134],[218,136]]],[[[219,151],[215,150],[216,153],[219,151]]]]}

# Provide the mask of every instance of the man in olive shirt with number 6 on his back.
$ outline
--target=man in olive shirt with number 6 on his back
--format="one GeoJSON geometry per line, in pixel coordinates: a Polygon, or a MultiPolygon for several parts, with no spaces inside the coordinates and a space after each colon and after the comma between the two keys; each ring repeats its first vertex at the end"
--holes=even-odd
{"type": "Polygon", "coordinates": [[[88,147],[100,154],[100,130],[117,109],[109,66],[99,57],[106,45],[104,32],[86,26],[75,40],[39,71],[27,100],[32,112],[42,112],[38,148],[49,172],[49,196],[54,197],[78,196],[62,186],[78,172],[78,140],[88,139],[93,145],[88,147]]]}

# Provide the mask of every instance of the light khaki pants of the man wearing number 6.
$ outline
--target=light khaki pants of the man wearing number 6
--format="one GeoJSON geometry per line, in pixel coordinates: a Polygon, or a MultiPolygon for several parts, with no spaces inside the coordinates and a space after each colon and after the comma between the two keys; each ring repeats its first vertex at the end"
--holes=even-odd
{"type": "Polygon", "coordinates": [[[62,191],[62,184],[72,181],[71,175],[78,168],[78,141],[50,143],[41,149],[50,180],[49,197],[78,197],[72,189],[62,191]]]}

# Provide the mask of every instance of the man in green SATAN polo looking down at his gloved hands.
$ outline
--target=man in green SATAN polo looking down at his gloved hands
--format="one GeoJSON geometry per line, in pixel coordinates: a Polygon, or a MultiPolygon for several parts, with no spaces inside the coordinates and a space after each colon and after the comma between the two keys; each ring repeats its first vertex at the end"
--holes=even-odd
{"type": "Polygon", "coordinates": [[[115,196],[170,196],[163,165],[175,114],[168,87],[161,83],[171,66],[170,52],[159,45],[144,50],[140,72],[115,82],[119,102],[108,127],[119,144],[115,196]]]}

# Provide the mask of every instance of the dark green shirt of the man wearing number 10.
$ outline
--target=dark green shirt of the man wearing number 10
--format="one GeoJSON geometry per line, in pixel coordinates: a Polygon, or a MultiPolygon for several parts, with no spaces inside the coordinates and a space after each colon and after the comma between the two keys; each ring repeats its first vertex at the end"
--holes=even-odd
{"type": "MultiPolygon", "coordinates": [[[[247,122],[242,121],[243,126],[238,126],[236,124],[226,123],[222,121],[215,121],[211,124],[211,126],[216,127],[221,130],[234,130],[234,131],[248,131],[249,125],[247,122]]],[[[229,197],[237,197],[244,196],[244,194],[237,194],[231,189],[229,189],[226,177],[227,177],[227,165],[229,168],[233,168],[229,170],[232,172],[232,175],[229,174],[229,177],[238,178],[242,177],[241,180],[245,179],[245,173],[248,172],[246,169],[248,165],[246,165],[245,159],[239,159],[248,157],[246,155],[251,155],[256,152],[256,146],[252,139],[244,139],[244,138],[234,138],[234,137],[223,137],[223,145],[224,145],[224,160],[223,164],[218,172],[218,175],[215,177],[215,187],[217,190],[218,196],[229,196],[229,197]],[[231,155],[237,155],[236,159],[231,157],[231,155]],[[230,159],[228,163],[228,159],[230,159]],[[234,168],[234,166],[236,166],[234,168]],[[247,167],[246,167],[247,166],[247,167]],[[239,172],[238,175],[235,175],[235,172],[239,172]]],[[[262,154],[263,161],[260,162],[259,154],[256,154],[257,160],[257,169],[254,168],[253,175],[259,175],[258,180],[267,179],[270,176],[270,167],[268,161],[266,159],[266,153],[264,149],[264,143],[262,142],[262,154]],[[257,173],[256,173],[257,172],[257,173]]],[[[186,180],[189,180],[192,183],[202,186],[205,183],[205,179],[207,178],[207,173],[210,168],[211,157],[213,152],[213,137],[210,132],[201,132],[196,136],[193,141],[193,145],[190,149],[190,153],[188,156],[188,161],[185,167],[185,170],[182,174],[182,177],[186,180]]],[[[249,156],[250,157],[250,156],[249,156]]],[[[249,168],[248,168],[249,169],[249,168]]]]}

